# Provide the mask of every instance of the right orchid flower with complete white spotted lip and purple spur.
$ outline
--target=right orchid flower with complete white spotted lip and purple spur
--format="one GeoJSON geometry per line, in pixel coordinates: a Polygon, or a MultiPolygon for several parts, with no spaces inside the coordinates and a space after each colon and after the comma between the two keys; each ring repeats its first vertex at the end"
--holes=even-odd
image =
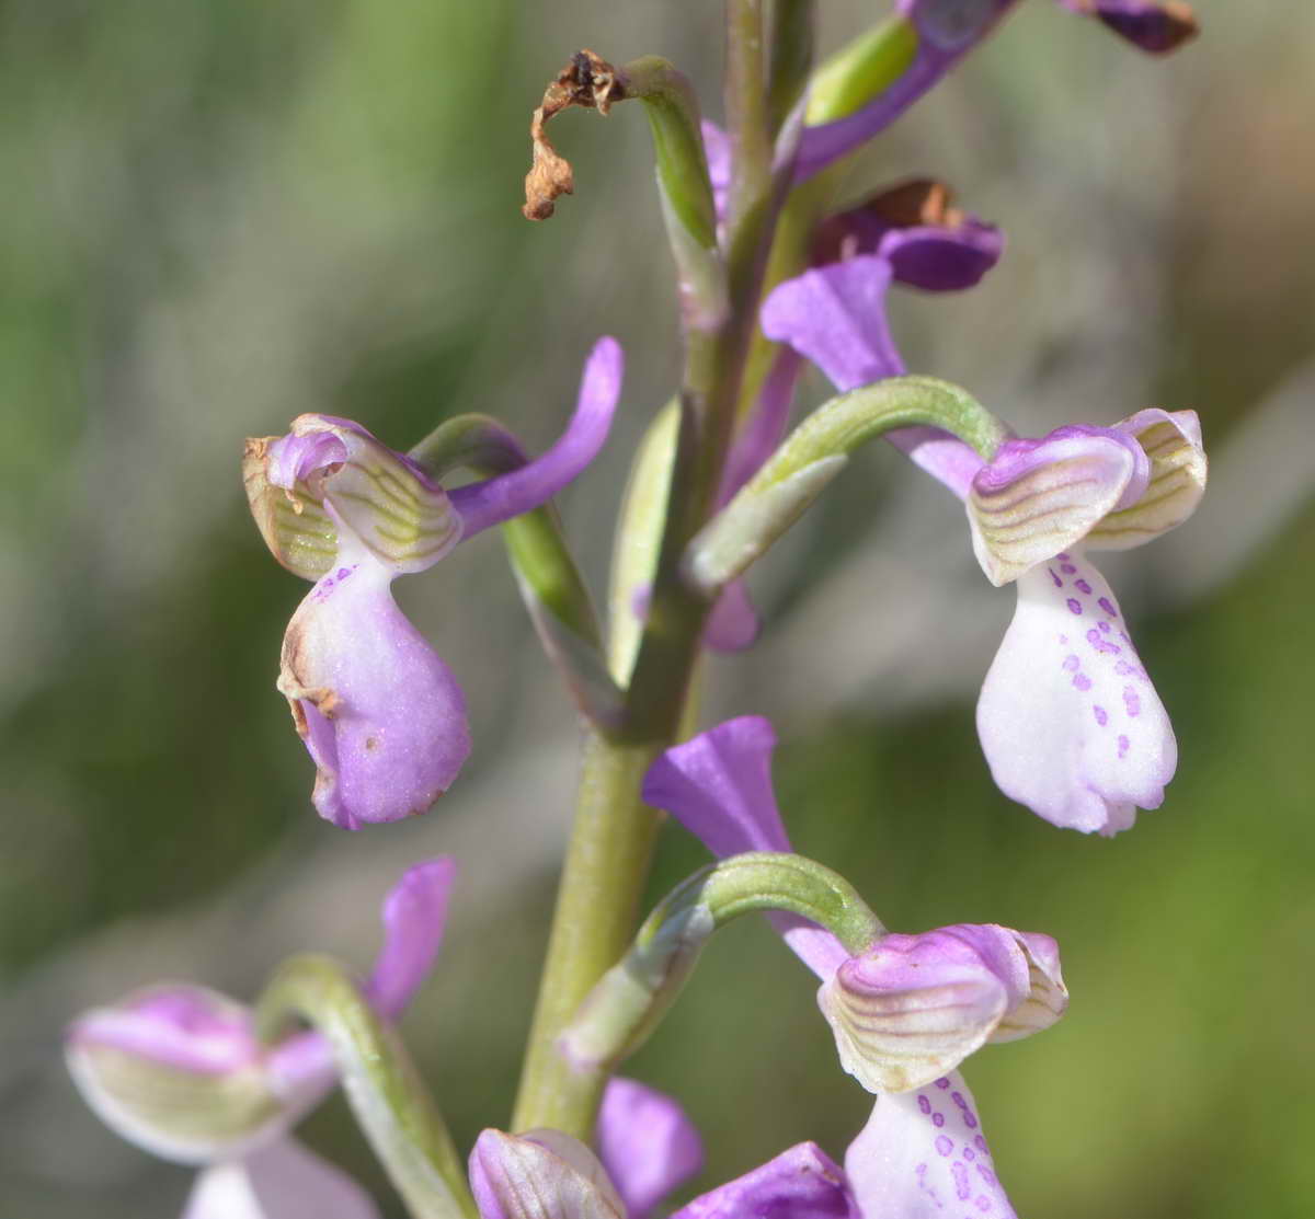
{"type": "MultiPolygon", "coordinates": [[[[888,242],[889,238],[882,238],[888,242]]],[[[840,390],[903,373],[885,315],[890,250],[781,284],[763,330],[840,390]]],[[[977,726],[997,786],[1047,821],[1090,833],[1159,808],[1177,747],[1114,592],[1084,549],[1127,549],[1186,520],[1206,483],[1191,411],[1006,441],[982,460],[935,428],[888,439],[968,507],[973,550],[1018,612],[986,675],[977,726]]]]}

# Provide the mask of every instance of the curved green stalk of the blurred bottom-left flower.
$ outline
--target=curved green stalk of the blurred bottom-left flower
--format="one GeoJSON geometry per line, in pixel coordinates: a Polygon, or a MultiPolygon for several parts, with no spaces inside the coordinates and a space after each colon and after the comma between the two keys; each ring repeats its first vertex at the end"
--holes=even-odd
{"type": "Polygon", "coordinates": [[[392,1026],[327,956],[295,956],[270,980],[256,1031],[274,1040],[309,1021],[333,1046],[342,1084],[375,1155],[416,1219],[479,1219],[462,1161],[392,1026]]]}

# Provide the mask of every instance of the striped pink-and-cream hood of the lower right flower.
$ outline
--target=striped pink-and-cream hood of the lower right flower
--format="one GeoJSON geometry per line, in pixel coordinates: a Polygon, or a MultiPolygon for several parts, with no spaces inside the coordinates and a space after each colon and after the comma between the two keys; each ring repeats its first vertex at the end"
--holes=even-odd
{"type": "Polygon", "coordinates": [[[818,992],[840,1065],[869,1092],[910,1092],[988,1040],[1055,1023],[1068,1005],[1044,935],[961,923],[886,935],[818,992]]]}

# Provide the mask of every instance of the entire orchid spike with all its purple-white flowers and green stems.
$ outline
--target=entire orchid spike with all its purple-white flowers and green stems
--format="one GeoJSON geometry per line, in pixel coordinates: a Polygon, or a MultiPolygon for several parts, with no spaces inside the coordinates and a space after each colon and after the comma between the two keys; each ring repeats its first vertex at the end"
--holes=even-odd
{"type": "MultiPolygon", "coordinates": [[[[768,123],[753,99],[729,131],[701,121],[684,78],[652,56],[615,67],[580,51],[548,85],[531,125],[530,213],[551,214],[572,189],[548,118],[650,105],[688,331],[685,381],[640,447],[621,514],[609,638],[550,500],[606,440],[622,381],[615,340],[594,345],[573,415],[535,458],[475,415],[409,452],[318,414],[247,441],[255,523],[275,558],[312,583],[276,684],[314,762],[321,817],[350,830],[397,821],[458,778],[472,749],[466,695],[391,586],[493,525],[588,740],[514,1130],[485,1128],[467,1163],[397,1030],[443,938],[447,858],[412,867],[391,891],[364,980],[329,958],[295,958],[251,1008],[164,983],[72,1023],[68,1067],[96,1113],[147,1151],[200,1166],[187,1219],[376,1216],[355,1182],[291,1135],[339,1084],[417,1215],[650,1219],[698,1173],[702,1141],[676,1099],[615,1069],[661,1021],[706,939],[750,912],[765,913],[815,975],[838,1067],[872,1094],[872,1111],[843,1165],[800,1143],[676,1219],[1014,1215],[960,1068],[1064,1015],[1056,942],[997,923],[886,930],[843,876],[793,851],[772,786],[772,725],[743,716],[685,726],[700,650],[744,650],[759,633],[748,565],[860,444],[884,436],[963,504],[986,579],[1016,588],[977,705],[1001,791],[1055,825],[1102,834],[1164,800],[1173,729],[1090,553],[1141,545],[1193,514],[1206,483],[1197,416],[1149,409],[1109,427],[1014,435],[967,391],[909,376],[886,314],[894,285],[976,286],[1003,255],[1001,230],[931,179],[848,206],[818,206],[819,192],[789,210],[801,183],[884,130],[1013,3],[898,0],[885,25],[796,80],[793,99],[782,87],[790,105],[773,96],[788,113],[768,123]],[[789,431],[807,361],[838,395],[789,431]],[[456,470],[472,481],[458,485],[456,470]],[[652,809],[715,863],[668,895],[618,959],[652,809]]],[[[1061,3],[1153,53],[1194,32],[1176,3],[1061,3]]],[[[734,37],[761,24],[759,5],[743,8],[734,37]]],[[[773,72],[785,72],[797,49],[776,50],[773,72]]]]}

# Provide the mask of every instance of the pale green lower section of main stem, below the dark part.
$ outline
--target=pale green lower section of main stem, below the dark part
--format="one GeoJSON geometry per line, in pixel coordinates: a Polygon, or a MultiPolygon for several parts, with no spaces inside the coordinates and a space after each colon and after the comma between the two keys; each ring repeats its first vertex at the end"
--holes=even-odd
{"type": "Polygon", "coordinates": [[[626,951],[660,814],[639,800],[659,745],[585,738],[571,846],[558,889],[539,1001],[512,1130],[547,1126],[585,1143],[605,1080],[579,1077],[556,1038],[593,984],[626,951]]]}

